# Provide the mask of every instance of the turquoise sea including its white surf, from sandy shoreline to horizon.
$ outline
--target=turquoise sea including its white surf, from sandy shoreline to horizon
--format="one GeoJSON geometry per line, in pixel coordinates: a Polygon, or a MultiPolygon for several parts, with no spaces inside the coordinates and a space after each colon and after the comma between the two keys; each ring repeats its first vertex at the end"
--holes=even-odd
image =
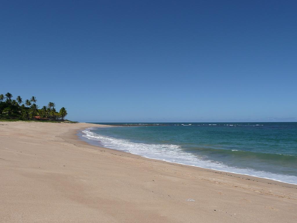
{"type": "Polygon", "coordinates": [[[82,136],[148,158],[297,184],[297,123],[165,124],[91,128],[82,136]]]}

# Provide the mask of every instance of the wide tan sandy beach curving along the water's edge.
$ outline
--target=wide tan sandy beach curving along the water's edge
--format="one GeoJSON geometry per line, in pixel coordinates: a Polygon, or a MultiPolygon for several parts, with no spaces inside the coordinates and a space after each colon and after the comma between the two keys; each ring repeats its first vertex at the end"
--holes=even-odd
{"type": "Polygon", "coordinates": [[[91,126],[0,122],[0,222],[296,222],[297,185],[92,146],[91,126]]]}

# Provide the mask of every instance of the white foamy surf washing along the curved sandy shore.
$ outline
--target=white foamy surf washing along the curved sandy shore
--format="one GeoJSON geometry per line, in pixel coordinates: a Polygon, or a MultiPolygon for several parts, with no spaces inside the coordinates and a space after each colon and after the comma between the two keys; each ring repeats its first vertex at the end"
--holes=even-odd
{"type": "MultiPolygon", "coordinates": [[[[196,167],[202,167],[207,169],[213,169],[217,171],[226,171],[231,173],[244,174],[249,176],[255,176],[260,178],[266,178],[271,180],[277,180],[285,183],[297,184],[297,177],[291,175],[282,175],[277,173],[271,173],[266,171],[258,171],[250,168],[237,168],[230,167],[222,162],[206,160],[203,156],[185,152],[179,145],[172,144],[145,144],[135,143],[127,139],[116,139],[110,136],[104,136],[96,134],[91,131],[92,128],[87,128],[83,133],[83,137],[86,139],[97,141],[98,144],[115,150],[120,150],[136,155],[140,155],[146,158],[158,159],[178,164],[186,164],[196,167]]],[[[232,151],[226,150],[231,153],[246,153],[244,151],[232,151]]],[[[225,151],[223,151],[225,152],[225,151]]],[[[289,157],[289,156],[288,156],[289,157]]]]}

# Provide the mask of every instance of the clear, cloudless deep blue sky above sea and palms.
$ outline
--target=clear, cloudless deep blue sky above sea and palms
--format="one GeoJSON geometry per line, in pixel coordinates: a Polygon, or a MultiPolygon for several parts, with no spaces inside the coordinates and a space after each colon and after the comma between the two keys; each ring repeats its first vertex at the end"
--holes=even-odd
{"type": "Polygon", "coordinates": [[[297,1],[1,1],[0,93],[70,120],[297,117],[297,1]]]}

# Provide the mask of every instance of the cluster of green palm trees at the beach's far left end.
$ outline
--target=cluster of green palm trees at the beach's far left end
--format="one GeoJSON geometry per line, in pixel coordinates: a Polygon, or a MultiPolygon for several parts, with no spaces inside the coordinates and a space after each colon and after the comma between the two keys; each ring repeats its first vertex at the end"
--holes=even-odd
{"type": "Polygon", "coordinates": [[[12,99],[12,94],[7,92],[0,95],[0,118],[1,119],[19,119],[19,120],[64,120],[67,111],[64,107],[59,112],[56,111],[56,105],[49,102],[47,106],[39,108],[36,104],[36,97],[23,99],[18,96],[12,99]]]}

